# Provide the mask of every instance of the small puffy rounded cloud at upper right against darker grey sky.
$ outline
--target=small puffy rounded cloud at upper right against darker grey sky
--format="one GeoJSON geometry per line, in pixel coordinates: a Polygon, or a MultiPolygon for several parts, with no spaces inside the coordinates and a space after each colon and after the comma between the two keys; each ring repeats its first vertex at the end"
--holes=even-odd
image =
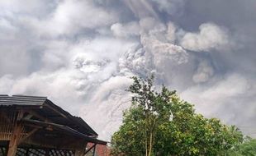
{"type": "Polygon", "coordinates": [[[180,41],[183,48],[192,51],[210,51],[229,44],[227,32],[220,26],[205,23],[199,26],[198,33],[186,33],[180,41]]]}

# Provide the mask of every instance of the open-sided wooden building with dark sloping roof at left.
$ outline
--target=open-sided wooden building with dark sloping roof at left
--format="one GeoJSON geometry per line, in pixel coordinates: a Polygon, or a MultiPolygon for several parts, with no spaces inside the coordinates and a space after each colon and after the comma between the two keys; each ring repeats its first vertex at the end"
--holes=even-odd
{"type": "Polygon", "coordinates": [[[96,145],[107,142],[46,97],[0,95],[0,156],[82,156],[96,145]]]}

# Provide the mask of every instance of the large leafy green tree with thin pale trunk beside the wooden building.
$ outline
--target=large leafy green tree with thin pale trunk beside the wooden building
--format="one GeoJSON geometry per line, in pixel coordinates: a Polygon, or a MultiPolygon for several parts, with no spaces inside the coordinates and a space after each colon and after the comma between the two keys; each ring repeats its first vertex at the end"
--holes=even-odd
{"type": "Polygon", "coordinates": [[[175,91],[155,91],[153,79],[133,77],[132,105],[111,138],[113,155],[217,155],[243,141],[235,126],[197,114],[175,91]]]}

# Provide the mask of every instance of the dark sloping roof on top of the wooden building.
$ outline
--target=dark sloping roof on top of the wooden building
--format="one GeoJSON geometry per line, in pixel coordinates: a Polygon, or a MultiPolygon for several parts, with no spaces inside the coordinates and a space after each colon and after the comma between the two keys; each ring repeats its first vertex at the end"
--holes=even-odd
{"type": "MultiPolygon", "coordinates": [[[[55,105],[47,97],[0,94],[0,108],[33,108],[36,114],[47,118],[55,126],[69,127],[69,129],[77,131],[79,135],[97,138],[97,133],[81,117],[74,117],[69,112],[55,105]]],[[[39,124],[39,122],[35,123],[39,124]]],[[[64,129],[66,130],[66,128],[64,129]]]]}

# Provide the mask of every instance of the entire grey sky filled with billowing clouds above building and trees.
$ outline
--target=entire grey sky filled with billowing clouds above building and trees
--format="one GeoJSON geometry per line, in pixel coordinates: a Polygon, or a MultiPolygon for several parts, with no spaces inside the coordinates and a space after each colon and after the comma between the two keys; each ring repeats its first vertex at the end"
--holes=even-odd
{"type": "Polygon", "coordinates": [[[256,136],[255,0],[0,0],[0,94],[47,96],[110,140],[131,76],[256,136]]]}

